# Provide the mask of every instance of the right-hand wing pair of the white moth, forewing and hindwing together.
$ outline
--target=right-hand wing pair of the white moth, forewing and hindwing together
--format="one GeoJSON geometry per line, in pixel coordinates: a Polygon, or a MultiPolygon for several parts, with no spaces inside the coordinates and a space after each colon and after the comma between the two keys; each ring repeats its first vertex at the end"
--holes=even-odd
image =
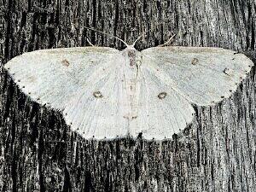
{"type": "Polygon", "coordinates": [[[142,58],[131,133],[149,139],[183,130],[193,120],[192,103],[211,105],[229,97],[253,66],[245,55],[218,48],[156,47],[144,49],[142,58]]]}

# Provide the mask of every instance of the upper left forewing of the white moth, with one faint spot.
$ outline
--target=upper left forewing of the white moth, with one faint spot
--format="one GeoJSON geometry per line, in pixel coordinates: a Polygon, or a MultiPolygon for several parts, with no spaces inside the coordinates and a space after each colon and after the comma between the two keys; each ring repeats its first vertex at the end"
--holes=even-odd
{"type": "Polygon", "coordinates": [[[113,67],[117,49],[42,49],[16,56],[4,67],[33,101],[63,110],[73,96],[113,67]]]}

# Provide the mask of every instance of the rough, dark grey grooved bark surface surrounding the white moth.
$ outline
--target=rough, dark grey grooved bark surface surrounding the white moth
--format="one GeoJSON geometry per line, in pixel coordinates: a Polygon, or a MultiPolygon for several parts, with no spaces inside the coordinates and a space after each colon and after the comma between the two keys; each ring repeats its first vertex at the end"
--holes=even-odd
{"type": "MultiPolygon", "coordinates": [[[[137,49],[217,46],[256,63],[253,0],[0,0],[1,65],[35,49],[92,44],[137,49]],[[159,25],[159,23],[162,23],[159,25]]],[[[172,140],[86,141],[61,113],[32,102],[1,69],[0,191],[256,191],[255,67],[236,93],[196,107],[172,140]]]]}

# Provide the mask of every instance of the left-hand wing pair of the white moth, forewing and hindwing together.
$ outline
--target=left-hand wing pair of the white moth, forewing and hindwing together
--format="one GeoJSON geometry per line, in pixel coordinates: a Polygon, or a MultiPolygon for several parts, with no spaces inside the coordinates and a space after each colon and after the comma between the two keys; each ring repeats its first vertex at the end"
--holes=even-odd
{"type": "Polygon", "coordinates": [[[127,134],[127,122],[119,118],[125,102],[122,84],[117,84],[119,53],[101,47],[42,49],[4,67],[33,101],[61,110],[73,131],[84,138],[109,138],[127,134]]]}

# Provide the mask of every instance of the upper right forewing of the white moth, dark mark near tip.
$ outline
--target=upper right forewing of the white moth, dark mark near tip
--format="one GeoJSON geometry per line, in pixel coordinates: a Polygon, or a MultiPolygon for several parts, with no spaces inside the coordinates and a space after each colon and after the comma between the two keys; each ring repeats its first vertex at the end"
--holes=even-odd
{"type": "Polygon", "coordinates": [[[143,65],[197,105],[220,102],[253,66],[247,56],[221,48],[155,47],[142,51],[143,65]]]}

